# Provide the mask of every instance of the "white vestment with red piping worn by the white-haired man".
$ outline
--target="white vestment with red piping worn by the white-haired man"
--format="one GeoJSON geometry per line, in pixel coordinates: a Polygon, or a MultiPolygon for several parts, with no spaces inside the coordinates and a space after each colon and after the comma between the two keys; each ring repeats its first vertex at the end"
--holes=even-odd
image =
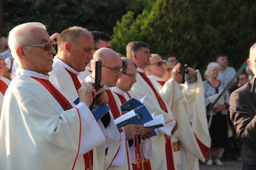
{"type": "Polygon", "coordinates": [[[0,119],[0,166],[4,170],[84,170],[83,154],[105,141],[89,108],[82,102],[63,111],[35,78],[48,75],[18,68],[6,90],[0,119]],[[35,78],[32,78],[35,77],[35,78]]]}

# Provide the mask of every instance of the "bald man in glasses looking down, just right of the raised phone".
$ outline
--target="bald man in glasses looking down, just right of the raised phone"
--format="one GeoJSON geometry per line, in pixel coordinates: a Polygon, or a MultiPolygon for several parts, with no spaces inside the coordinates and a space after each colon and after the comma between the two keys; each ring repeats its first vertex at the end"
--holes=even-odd
{"type": "MultiPolygon", "coordinates": [[[[121,116],[120,105],[117,103],[114,93],[111,90],[111,87],[115,87],[117,81],[122,74],[122,61],[120,56],[113,50],[109,48],[100,48],[94,54],[94,59],[91,61],[91,66],[93,72],[91,76],[88,76],[85,79],[85,82],[94,82],[95,81],[95,63],[97,60],[102,61],[102,81],[105,82],[105,90],[109,96],[108,105],[110,107],[110,114],[114,119],[121,116]]],[[[134,136],[139,135],[142,125],[130,124],[124,126],[123,133],[120,133],[121,138],[119,141],[113,143],[106,154],[106,163],[105,169],[112,168],[121,168],[124,170],[130,169],[131,167],[131,158],[128,145],[126,140],[134,138],[134,136]]],[[[122,132],[120,130],[120,132],[122,132]]],[[[102,165],[99,165],[99,168],[102,165]]]]}

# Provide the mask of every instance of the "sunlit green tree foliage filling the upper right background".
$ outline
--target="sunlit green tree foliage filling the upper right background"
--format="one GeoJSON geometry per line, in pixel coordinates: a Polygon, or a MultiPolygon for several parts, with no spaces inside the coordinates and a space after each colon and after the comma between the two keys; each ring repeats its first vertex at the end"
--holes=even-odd
{"type": "Polygon", "coordinates": [[[126,54],[130,41],[144,41],[152,53],[172,53],[204,71],[218,53],[238,69],[256,41],[256,1],[144,0],[145,8],[128,12],[114,28],[113,48],[126,54]]]}

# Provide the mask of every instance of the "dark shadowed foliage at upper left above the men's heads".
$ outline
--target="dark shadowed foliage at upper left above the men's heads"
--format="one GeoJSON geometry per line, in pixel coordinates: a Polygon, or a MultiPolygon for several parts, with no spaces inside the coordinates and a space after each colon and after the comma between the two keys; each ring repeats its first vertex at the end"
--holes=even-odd
{"type": "Polygon", "coordinates": [[[5,0],[2,36],[26,22],[45,24],[50,35],[71,26],[112,35],[116,21],[127,11],[142,9],[137,0],[5,0]]]}

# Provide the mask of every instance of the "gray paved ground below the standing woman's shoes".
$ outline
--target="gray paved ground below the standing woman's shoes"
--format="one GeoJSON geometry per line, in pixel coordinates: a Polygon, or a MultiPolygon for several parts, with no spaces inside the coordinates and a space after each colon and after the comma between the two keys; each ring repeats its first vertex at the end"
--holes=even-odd
{"type": "Polygon", "coordinates": [[[235,160],[229,160],[229,161],[222,161],[223,166],[207,166],[205,163],[199,163],[200,170],[241,170],[242,169],[242,162],[238,162],[235,160]]]}

